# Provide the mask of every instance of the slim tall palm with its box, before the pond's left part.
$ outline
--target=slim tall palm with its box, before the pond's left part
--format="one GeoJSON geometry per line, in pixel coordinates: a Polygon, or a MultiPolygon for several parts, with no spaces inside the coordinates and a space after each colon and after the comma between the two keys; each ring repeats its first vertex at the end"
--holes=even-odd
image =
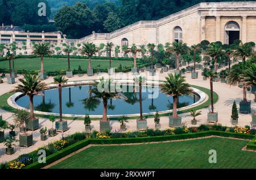
{"type": "Polygon", "coordinates": [[[68,79],[63,78],[62,76],[56,76],[53,78],[53,84],[57,84],[59,89],[59,113],[60,113],[60,120],[55,122],[55,127],[57,132],[64,132],[68,130],[68,122],[63,121],[62,119],[62,87],[64,84],[68,82],[68,79]]]}

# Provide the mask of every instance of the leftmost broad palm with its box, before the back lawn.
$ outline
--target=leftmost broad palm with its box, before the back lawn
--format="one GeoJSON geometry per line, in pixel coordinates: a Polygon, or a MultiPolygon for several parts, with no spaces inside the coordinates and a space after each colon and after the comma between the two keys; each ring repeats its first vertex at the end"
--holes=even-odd
{"type": "Polygon", "coordinates": [[[44,56],[52,54],[49,44],[47,43],[35,44],[32,54],[35,54],[41,58],[41,70],[40,72],[38,72],[39,79],[42,79],[42,80],[46,79],[47,72],[44,71],[44,56]]]}

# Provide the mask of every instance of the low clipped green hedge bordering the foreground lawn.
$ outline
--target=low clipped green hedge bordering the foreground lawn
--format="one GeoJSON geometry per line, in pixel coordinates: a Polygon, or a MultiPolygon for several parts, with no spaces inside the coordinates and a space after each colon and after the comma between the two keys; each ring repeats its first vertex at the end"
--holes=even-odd
{"type": "MultiPolygon", "coordinates": [[[[181,139],[193,139],[202,138],[211,135],[224,136],[229,138],[240,138],[240,139],[256,139],[254,135],[247,134],[236,134],[232,132],[221,132],[221,131],[204,131],[204,132],[194,132],[192,134],[179,134],[179,135],[167,135],[167,136],[147,136],[141,138],[118,138],[118,139],[84,139],[80,142],[70,145],[67,148],[62,149],[52,155],[46,157],[46,164],[39,164],[34,162],[24,169],[38,169],[47,166],[60,158],[70,155],[73,152],[84,148],[89,144],[129,144],[129,143],[148,143],[148,142],[164,142],[168,140],[181,140],[181,139]]],[[[250,144],[250,143],[249,143],[250,144]]],[[[248,146],[247,146],[248,147],[248,146]]],[[[256,145],[254,145],[256,149],[256,145]]]]}

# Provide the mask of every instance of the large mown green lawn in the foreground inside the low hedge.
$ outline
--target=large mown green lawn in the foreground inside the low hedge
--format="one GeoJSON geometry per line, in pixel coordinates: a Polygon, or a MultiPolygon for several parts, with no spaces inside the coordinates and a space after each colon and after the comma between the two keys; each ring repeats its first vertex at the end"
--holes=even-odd
{"type": "Polygon", "coordinates": [[[256,168],[256,152],[242,151],[247,141],[209,138],[184,142],[90,147],[51,168],[256,168]],[[209,164],[209,150],[217,164],[209,164]]]}

